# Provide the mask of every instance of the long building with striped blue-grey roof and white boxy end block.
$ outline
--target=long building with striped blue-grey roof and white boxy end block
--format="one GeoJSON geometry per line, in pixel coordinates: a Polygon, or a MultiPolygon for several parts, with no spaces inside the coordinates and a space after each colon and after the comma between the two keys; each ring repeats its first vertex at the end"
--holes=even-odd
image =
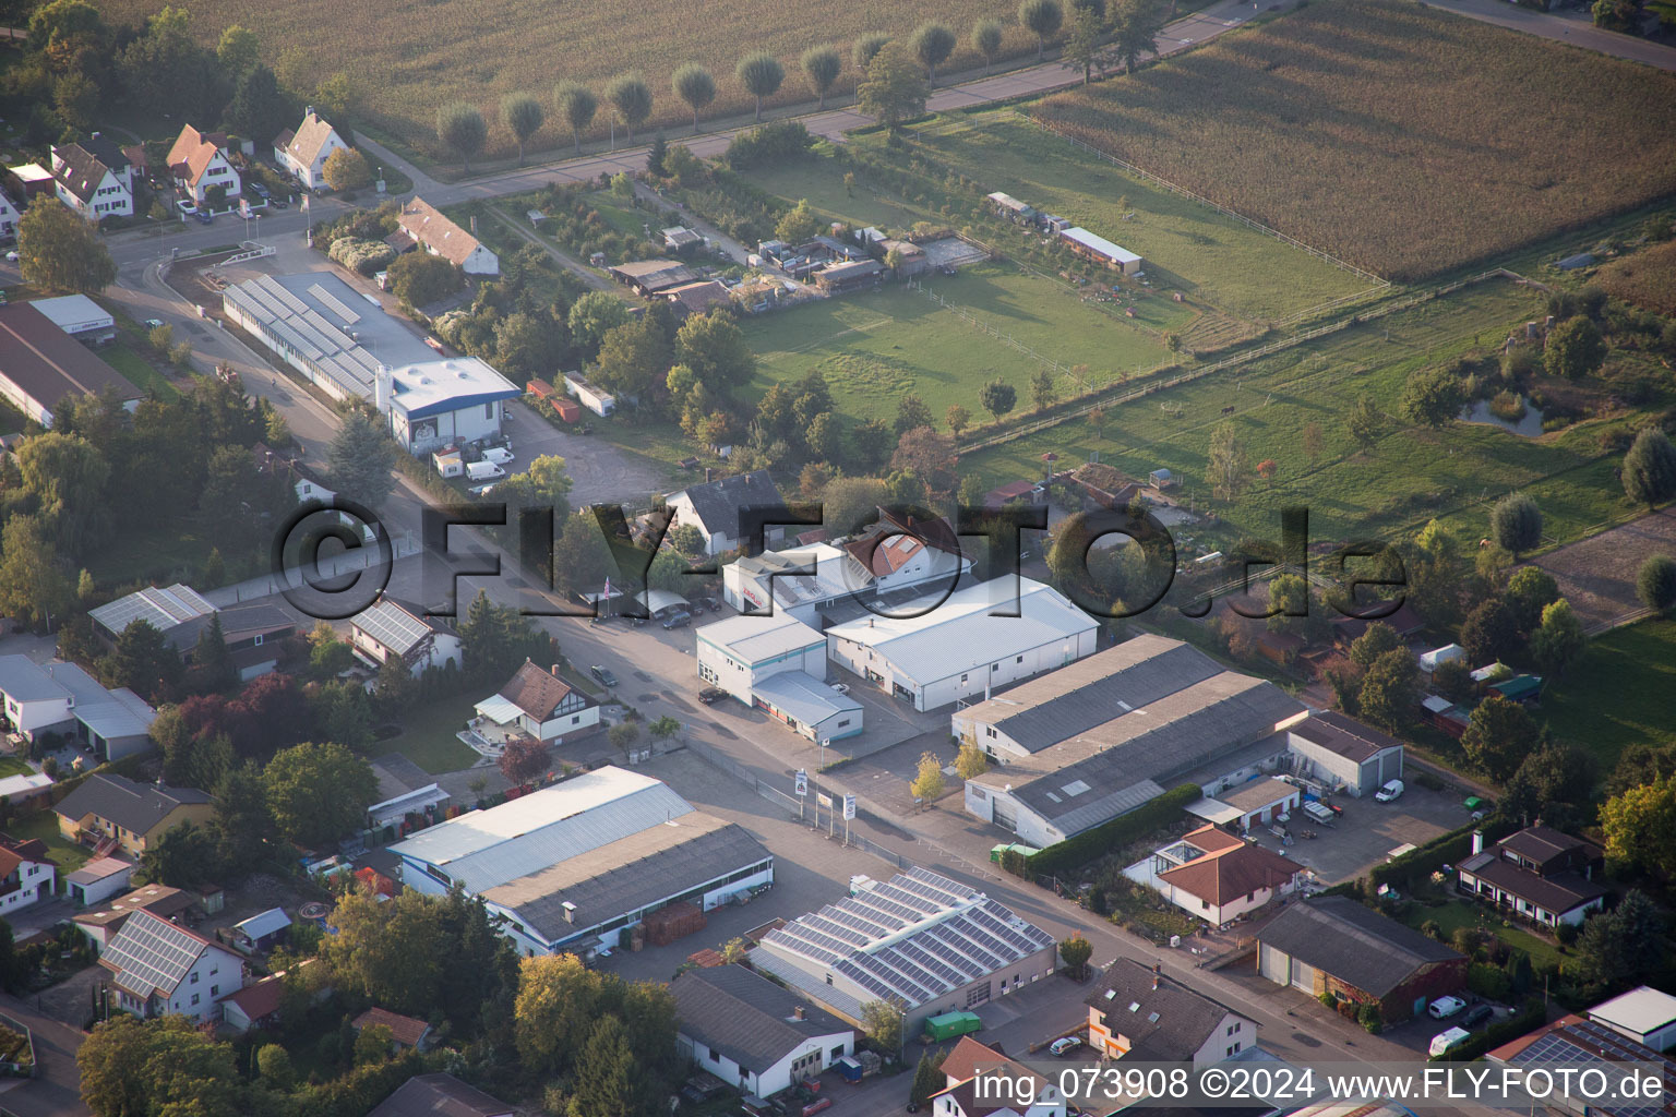
{"type": "Polygon", "coordinates": [[[330,271],[235,283],[221,291],[221,308],[327,395],[370,402],[414,457],[498,435],[506,400],[521,395],[476,357],[437,358],[330,271]]]}

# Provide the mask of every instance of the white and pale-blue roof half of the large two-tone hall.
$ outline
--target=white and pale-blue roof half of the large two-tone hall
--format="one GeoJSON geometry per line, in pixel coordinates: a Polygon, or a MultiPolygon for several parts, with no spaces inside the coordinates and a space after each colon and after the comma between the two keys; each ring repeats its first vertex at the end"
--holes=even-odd
{"type": "Polygon", "coordinates": [[[481,893],[691,811],[662,780],[603,767],[488,811],[468,811],[391,849],[481,893]]]}

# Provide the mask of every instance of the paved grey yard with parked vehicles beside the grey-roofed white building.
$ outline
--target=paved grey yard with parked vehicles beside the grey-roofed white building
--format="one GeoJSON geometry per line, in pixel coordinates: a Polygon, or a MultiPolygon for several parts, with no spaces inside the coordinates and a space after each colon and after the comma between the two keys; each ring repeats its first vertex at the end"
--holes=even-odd
{"type": "Polygon", "coordinates": [[[1306,827],[1302,816],[1292,816],[1292,844],[1287,847],[1267,827],[1252,832],[1265,847],[1309,866],[1324,883],[1337,884],[1379,864],[1398,846],[1420,846],[1468,819],[1458,795],[1426,790],[1413,780],[1408,780],[1408,789],[1396,802],[1374,802],[1373,795],[1339,795],[1334,802],[1344,807],[1344,817],[1332,827],[1306,827]],[[1319,837],[1299,837],[1304,829],[1316,831],[1319,837]]]}

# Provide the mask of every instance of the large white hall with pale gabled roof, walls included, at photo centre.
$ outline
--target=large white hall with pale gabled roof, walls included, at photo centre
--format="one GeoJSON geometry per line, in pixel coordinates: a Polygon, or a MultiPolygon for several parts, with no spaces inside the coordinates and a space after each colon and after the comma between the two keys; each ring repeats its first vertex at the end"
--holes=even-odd
{"type": "Polygon", "coordinates": [[[930,593],[826,630],[826,650],[915,710],[985,698],[996,687],[1093,655],[1099,625],[1029,578],[930,593]],[[1016,613],[1016,615],[1012,615],[1016,613]]]}

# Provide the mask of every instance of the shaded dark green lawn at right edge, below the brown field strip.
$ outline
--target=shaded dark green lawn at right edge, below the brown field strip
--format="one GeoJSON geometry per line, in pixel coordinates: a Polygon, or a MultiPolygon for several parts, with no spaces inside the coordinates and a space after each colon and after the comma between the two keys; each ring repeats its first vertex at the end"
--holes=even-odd
{"type": "Polygon", "coordinates": [[[1648,620],[1589,641],[1542,693],[1554,735],[1594,754],[1601,774],[1629,745],[1676,742],[1676,621],[1648,620]]]}

